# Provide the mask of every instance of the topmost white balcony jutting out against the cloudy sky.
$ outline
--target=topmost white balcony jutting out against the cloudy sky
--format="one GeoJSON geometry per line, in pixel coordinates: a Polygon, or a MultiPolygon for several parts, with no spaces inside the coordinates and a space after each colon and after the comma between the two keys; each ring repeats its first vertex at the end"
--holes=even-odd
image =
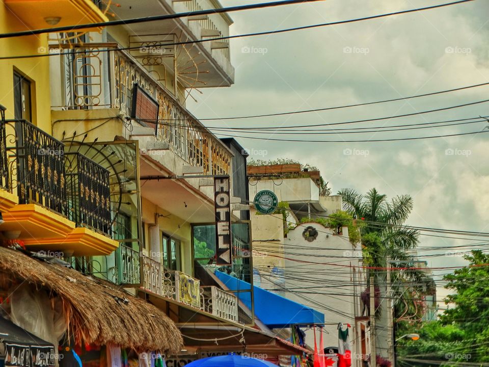
{"type": "MultiPolygon", "coordinates": [[[[145,17],[155,13],[174,14],[222,7],[215,0],[146,0],[137,5],[131,0],[120,0],[118,5],[117,8],[111,8],[111,11],[120,19],[145,17]]],[[[171,70],[174,65],[171,59],[167,57],[173,53],[178,55],[177,64],[181,66],[179,68],[177,65],[177,76],[178,69],[182,71],[186,68],[192,68],[192,70],[187,69],[185,71],[198,72],[198,77],[195,78],[195,88],[229,87],[234,83],[234,68],[230,62],[229,40],[179,44],[175,47],[159,47],[158,44],[226,37],[229,36],[229,27],[232,23],[229,15],[223,13],[131,24],[130,27],[124,27],[124,31],[128,35],[129,45],[135,47],[131,54],[141,58],[142,63],[146,64],[149,70],[154,69],[155,66],[160,68],[161,65],[166,65],[167,69],[171,70]],[[170,42],[166,39],[169,36],[172,36],[170,42]],[[145,52],[138,51],[138,49],[144,50],[145,47],[145,52]]],[[[188,81],[188,76],[193,75],[182,73],[181,76],[178,81],[182,85],[186,85],[184,76],[187,77],[188,81]]]]}

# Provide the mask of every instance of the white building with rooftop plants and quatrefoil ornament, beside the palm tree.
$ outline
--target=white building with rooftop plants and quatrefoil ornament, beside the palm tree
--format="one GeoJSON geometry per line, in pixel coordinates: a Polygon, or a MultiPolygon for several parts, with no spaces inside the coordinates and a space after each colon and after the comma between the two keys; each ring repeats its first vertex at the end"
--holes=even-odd
{"type": "MultiPolygon", "coordinates": [[[[338,323],[350,324],[352,359],[356,360],[352,365],[360,367],[362,355],[369,353],[367,320],[362,326],[358,319],[363,314],[360,294],[366,286],[359,268],[360,245],[350,243],[346,226],[338,232],[323,225],[329,215],[341,210],[340,196],[320,196],[317,180],[307,175],[287,176],[250,179],[250,200],[269,190],[279,203],[290,207],[271,215],[251,209],[255,285],[324,313],[325,348],[338,347],[338,323]],[[285,231],[284,226],[288,227],[285,231]]],[[[318,333],[316,337],[319,347],[318,333]]],[[[313,348],[310,328],[306,342],[313,348]]]]}

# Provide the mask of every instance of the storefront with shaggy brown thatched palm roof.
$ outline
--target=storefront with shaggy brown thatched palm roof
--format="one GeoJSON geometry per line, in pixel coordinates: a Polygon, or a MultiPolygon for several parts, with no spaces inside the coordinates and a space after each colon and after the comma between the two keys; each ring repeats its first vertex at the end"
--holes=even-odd
{"type": "Polygon", "coordinates": [[[54,261],[0,247],[2,316],[53,346],[56,365],[149,365],[180,352],[182,337],[165,312],[54,261]]]}

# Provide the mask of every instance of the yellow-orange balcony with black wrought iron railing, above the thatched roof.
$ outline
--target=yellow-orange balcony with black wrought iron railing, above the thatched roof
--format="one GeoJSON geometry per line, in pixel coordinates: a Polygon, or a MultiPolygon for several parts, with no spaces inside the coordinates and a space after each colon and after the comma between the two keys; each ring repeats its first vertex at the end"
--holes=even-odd
{"type": "Polygon", "coordinates": [[[108,172],[81,154],[67,159],[64,144],[29,121],[0,125],[4,236],[32,249],[83,255],[114,251],[108,172]]]}

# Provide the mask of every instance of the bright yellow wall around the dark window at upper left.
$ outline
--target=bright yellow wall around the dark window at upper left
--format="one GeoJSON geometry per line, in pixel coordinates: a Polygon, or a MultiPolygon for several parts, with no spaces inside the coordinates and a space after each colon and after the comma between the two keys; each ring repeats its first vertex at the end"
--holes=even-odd
{"type": "MultiPolygon", "coordinates": [[[[0,3],[0,33],[25,31],[28,29],[28,26],[23,24],[2,1],[0,3]]],[[[0,50],[2,50],[3,57],[39,55],[39,51],[47,50],[47,35],[0,39],[0,50]]],[[[14,118],[14,70],[28,77],[33,83],[31,90],[32,122],[50,134],[51,99],[49,93],[49,57],[0,60],[0,75],[2,80],[0,104],[3,104],[7,108],[7,119],[14,118]]]]}

